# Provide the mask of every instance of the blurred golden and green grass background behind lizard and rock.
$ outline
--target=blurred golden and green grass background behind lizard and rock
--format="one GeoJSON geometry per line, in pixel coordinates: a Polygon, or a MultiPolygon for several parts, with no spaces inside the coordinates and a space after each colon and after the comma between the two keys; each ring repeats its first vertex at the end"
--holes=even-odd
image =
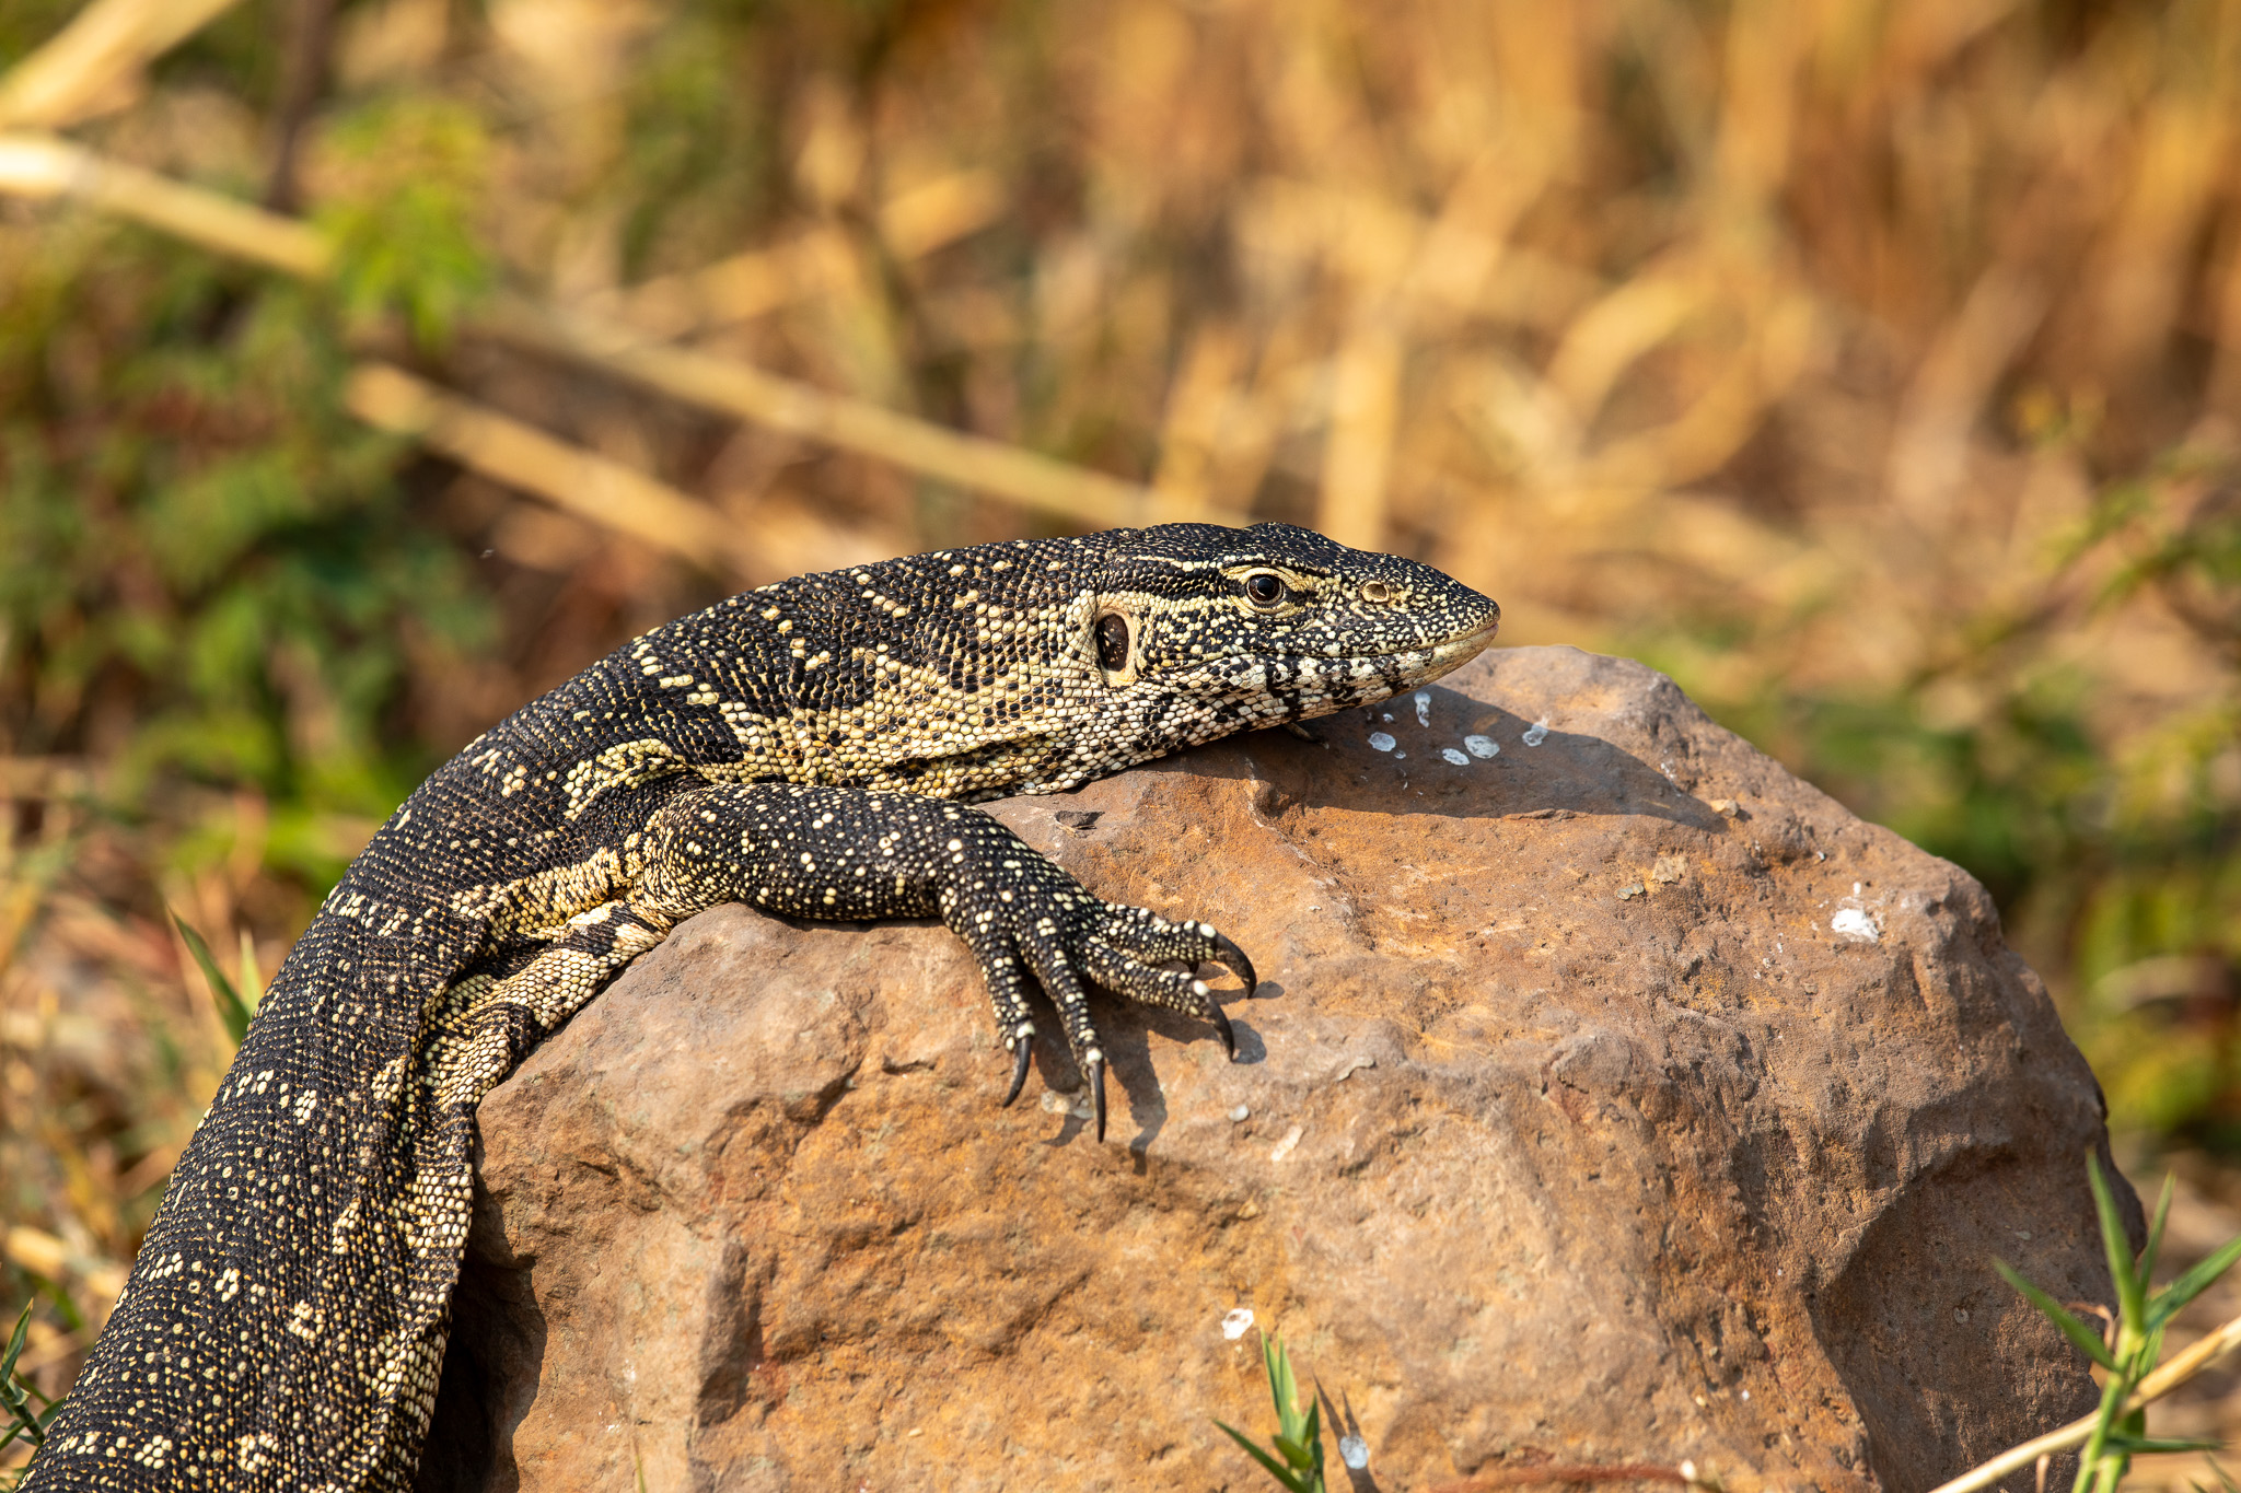
{"type": "MultiPolygon", "coordinates": [[[[0,63],[72,11],[0,0],[0,63]]],[[[522,351],[500,291],[1647,658],[1983,877],[2133,1155],[2241,1198],[2237,2],[247,0],[0,128],[336,255],[0,199],[0,1305],[52,1388],[229,1054],[166,907],[253,985],[625,636],[1089,526],[522,351]],[[365,358],[744,542],[372,430],[365,358]]]]}

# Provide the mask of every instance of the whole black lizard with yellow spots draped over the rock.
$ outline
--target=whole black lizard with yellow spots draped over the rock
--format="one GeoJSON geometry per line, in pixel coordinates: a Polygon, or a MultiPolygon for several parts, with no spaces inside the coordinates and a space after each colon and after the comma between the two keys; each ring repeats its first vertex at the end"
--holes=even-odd
{"type": "Polygon", "coordinates": [[[1091,1079],[1085,985],[1228,1023],[1206,922],[1098,900],[975,799],[1060,792],[1392,696],[1499,609],[1309,530],[1170,524],[748,591],[491,727],[289,951],[25,1482],[406,1489],[473,1202],[475,1104],[684,918],[939,915],[982,965],[1006,1104],[1033,994],[1091,1079]],[[1177,969],[1181,967],[1181,969],[1177,969]]]}

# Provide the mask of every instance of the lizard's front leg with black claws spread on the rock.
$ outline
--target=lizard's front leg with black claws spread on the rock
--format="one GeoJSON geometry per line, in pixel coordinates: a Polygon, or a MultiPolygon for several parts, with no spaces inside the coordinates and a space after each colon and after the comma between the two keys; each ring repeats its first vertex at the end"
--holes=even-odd
{"type": "Polygon", "coordinates": [[[1085,978],[1129,1001],[1210,1021],[1237,1057],[1228,1016],[1194,969],[1230,967],[1250,992],[1253,963],[1208,922],[1170,922],[1105,902],[993,817],[908,792],[800,783],[681,792],[639,837],[632,904],[677,922],[719,902],[789,918],[941,918],[979,960],[997,1032],[1026,1083],[1035,983],[1058,1007],[1089,1079],[1105,1139],[1105,1050],[1085,978]],[[1165,965],[1183,965],[1170,969],[1165,965]]]}

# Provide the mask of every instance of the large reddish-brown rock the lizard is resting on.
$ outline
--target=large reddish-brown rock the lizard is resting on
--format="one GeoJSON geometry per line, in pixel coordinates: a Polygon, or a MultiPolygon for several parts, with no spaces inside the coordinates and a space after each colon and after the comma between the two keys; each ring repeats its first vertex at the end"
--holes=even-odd
{"type": "Polygon", "coordinates": [[[939,927],[724,907],[639,960],[482,1108],[426,1482],[1271,1486],[1210,1424],[1271,1421],[1237,1307],[1389,1493],[1912,1491],[2091,1403],[1990,1260],[2107,1296],[2100,1092],[1974,880],[1634,663],[1385,714],[997,806],[1264,976],[1237,1065],[1100,1007],[1103,1146],[1062,1057],[995,1108],[939,927]]]}

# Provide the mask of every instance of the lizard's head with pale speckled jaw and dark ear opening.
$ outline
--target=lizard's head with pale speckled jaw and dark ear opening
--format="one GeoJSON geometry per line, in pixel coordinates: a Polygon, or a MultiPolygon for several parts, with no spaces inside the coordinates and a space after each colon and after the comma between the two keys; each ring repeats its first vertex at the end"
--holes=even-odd
{"type": "Polygon", "coordinates": [[[1414,560],[1291,524],[1114,535],[1082,649],[1107,698],[1172,750],[1371,705],[1475,658],[1501,609],[1414,560]]]}

